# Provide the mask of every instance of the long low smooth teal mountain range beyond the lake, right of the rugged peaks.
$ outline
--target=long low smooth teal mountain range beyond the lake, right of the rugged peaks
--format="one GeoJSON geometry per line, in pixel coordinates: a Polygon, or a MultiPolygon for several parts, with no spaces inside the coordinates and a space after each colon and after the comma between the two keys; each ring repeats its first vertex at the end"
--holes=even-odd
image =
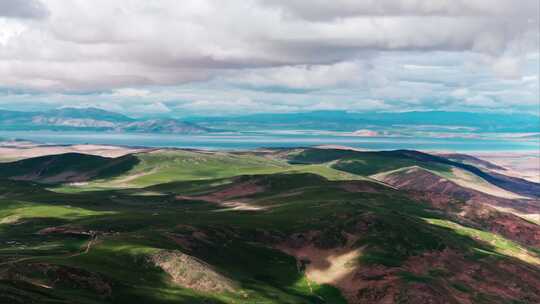
{"type": "Polygon", "coordinates": [[[193,117],[189,121],[220,129],[297,129],[356,131],[393,129],[453,132],[540,132],[540,117],[528,114],[471,112],[363,112],[314,111],[253,114],[229,117],[193,117]]]}

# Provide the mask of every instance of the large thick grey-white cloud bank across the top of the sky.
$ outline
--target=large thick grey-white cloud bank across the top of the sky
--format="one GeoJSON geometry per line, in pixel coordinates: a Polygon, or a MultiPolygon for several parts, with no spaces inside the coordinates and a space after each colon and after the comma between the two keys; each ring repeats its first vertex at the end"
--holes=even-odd
{"type": "Polygon", "coordinates": [[[274,73],[268,81],[290,72],[291,85],[304,88],[329,81],[318,80],[329,73],[349,73],[341,70],[348,63],[336,62],[384,50],[499,53],[538,26],[534,0],[338,2],[44,0],[47,18],[2,39],[0,85],[52,91],[176,85],[224,69],[283,66],[268,71],[274,73]]]}

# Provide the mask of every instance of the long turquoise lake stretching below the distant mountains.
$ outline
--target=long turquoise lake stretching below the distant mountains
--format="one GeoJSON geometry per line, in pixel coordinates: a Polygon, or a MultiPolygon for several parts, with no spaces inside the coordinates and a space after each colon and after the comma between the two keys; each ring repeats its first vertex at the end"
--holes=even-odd
{"type": "Polygon", "coordinates": [[[212,135],[126,134],[106,132],[0,131],[3,139],[24,139],[46,144],[108,144],[211,150],[340,145],[371,150],[539,151],[538,139],[358,137],[320,134],[235,133],[212,135]]]}

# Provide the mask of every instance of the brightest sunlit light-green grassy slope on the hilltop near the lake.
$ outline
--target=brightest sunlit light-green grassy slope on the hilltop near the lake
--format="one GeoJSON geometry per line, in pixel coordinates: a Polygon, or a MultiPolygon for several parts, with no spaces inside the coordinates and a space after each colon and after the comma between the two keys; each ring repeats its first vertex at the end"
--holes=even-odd
{"type": "Polygon", "coordinates": [[[250,154],[160,150],[136,154],[138,163],[115,177],[83,185],[61,185],[56,191],[78,192],[110,188],[146,187],[172,181],[226,178],[242,174],[314,173],[330,180],[362,180],[363,176],[336,170],[331,164],[294,165],[250,154]]]}

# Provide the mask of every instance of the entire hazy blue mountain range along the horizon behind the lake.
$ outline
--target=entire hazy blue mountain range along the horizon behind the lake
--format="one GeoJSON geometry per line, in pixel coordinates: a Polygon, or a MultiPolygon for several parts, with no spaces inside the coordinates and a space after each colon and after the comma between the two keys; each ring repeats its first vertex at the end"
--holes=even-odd
{"type": "MultiPolygon", "coordinates": [[[[61,108],[42,112],[0,110],[0,130],[107,131],[201,134],[219,131],[321,130],[340,132],[540,132],[540,117],[527,114],[469,112],[314,111],[244,116],[132,118],[97,108],[61,108]]],[[[396,133],[397,132],[397,133],[396,133]]],[[[529,135],[534,137],[535,135],[529,135]]]]}

